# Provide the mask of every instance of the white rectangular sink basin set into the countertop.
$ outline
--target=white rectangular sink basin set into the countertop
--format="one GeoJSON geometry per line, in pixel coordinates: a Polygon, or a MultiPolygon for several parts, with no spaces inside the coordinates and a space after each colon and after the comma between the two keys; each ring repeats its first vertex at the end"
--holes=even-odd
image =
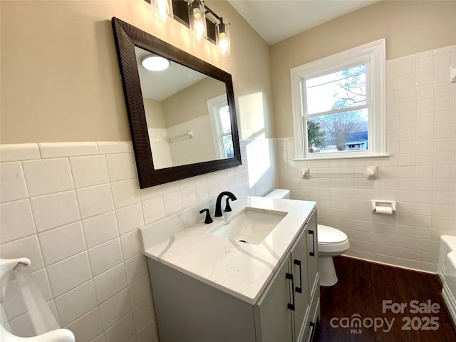
{"type": "Polygon", "coordinates": [[[227,222],[207,232],[238,242],[261,244],[286,214],[288,213],[276,210],[245,207],[241,212],[229,217],[227,222]]]}

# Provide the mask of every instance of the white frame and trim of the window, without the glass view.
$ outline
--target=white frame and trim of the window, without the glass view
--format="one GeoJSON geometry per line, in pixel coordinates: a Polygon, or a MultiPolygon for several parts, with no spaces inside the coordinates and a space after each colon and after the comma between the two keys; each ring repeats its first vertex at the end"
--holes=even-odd
{"type": "Polygon", "coordinates": [[[385,39],[291,68],[295,160],[385,157],[386,153],[385,39]],[[366,64],[369,104],[368,150],[309,153],[307,140],[306,80],[366,64]]]}

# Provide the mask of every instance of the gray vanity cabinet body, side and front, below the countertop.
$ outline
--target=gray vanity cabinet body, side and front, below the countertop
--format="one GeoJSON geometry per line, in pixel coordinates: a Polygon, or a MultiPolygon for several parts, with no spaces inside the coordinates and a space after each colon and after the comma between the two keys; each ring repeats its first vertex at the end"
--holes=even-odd
{"type": "Polygon", "coordinates": [[[319,316],[316,234],[314,209],[254,304],[148,258],[160,342],[309,341],[319,316]]]}

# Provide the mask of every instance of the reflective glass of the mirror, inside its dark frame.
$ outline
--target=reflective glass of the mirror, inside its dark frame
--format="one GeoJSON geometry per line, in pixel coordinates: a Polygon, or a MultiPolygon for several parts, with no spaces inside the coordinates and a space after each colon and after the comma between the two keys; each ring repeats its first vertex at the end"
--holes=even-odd
{"type": "Polygon", "coordinates": [[[155,169],[234,157],[225,83],[170,61],[147,70],[135,46],[155,169]]]}

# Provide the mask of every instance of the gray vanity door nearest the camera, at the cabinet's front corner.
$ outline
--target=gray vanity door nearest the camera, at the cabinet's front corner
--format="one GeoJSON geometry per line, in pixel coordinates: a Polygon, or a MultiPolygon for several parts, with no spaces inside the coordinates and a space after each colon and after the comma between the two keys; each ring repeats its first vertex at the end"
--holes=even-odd
{"type": "Polygon", "coordinates": [[[291,264],[289,257],[281,264],[274,279],[264,290],[264,294],[255,305],[255,330],[257,341],[261,342],[292,342],[292,303],[291,264]]]}

